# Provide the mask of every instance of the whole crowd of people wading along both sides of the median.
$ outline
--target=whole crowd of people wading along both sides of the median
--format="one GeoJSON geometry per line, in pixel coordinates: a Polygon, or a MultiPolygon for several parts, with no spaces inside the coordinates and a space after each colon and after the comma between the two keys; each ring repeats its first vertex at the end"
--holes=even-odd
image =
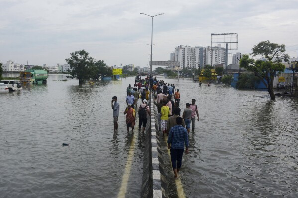
{"type": "MultiPolygon", "coordinates": [[[[159,131],[162,131],[163,135],[168,135],[167,143],[171,153],[172,168],[174,177],[177,178],[182,164],[184,146],[186,146],[185,153],[187,154],[189,152],[188,134],[190,132],[190,126],[192,124],[192,132],[194,132],[196,116],[197,121],[199,121],[198,106],[195,104],[196,99],[192,99],[191,103],[185,104],[186,108],[181,117],[179,89],[176,90],[174,84],[165,83],[163,80],[157,80],[150,76],[145,77],[145,79],[141,79],[138,76],[133,87],[131,84],[128,85],[126,94],[127,107],[124,115],[126,115],[127,132],[129,132],[129,128],[133,132],[136,109],[139,118],[138,129],[142,130],[142,132],[145,131],[148,116],[151,116],[147,101],[150,95],[154,98],[153,103],[157,106],[158,112],[158,128],[159,131]],[[138,106],[139,98],[141,98],[142,102],[138,106]]],[[[114,131],[117,131],[120,105],[117,101],[117,96],[114,96],[112,99],[114,131]]]]}

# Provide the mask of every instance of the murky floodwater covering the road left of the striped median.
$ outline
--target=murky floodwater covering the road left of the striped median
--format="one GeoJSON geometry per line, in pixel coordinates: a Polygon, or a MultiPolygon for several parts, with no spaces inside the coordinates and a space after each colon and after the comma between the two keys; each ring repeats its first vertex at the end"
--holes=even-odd
{"type": "Polygon", "coordinates": [[[47,85],[0,95],[0,197],[117,197],[132,141],[126,195],[140,197],[143,134],[127,133],[123,115],[134,79],[92,86],[64,79],[49,75],[47,85]],[[120,102],[116,133],[114,95],[120,102]]]}

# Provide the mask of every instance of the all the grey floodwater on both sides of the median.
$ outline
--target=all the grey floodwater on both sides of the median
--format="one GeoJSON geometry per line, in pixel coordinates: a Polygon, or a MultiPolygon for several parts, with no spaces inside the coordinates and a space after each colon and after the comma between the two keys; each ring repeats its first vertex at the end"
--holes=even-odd
{"type": "MultiPolygon", "coordinates": [[[[144,135],[137,127],[127,133],[123,115],[134,78],[82,86],[65,79],[49,75],[47,85],[0,95],[0,197],[114,198],[125,175],[126,197],[140,197],[144,135]],[[120,102],[116,133],[114,95],[120,102]]],[[[266,91],[165,81],[179,89],[182,112],[193,98],[199,109],[179,173],[186,197],[298,197],[297,98],[270,101],[266,91]]],[[[177,197],[162,142],[169,197],[177,197]]]]}

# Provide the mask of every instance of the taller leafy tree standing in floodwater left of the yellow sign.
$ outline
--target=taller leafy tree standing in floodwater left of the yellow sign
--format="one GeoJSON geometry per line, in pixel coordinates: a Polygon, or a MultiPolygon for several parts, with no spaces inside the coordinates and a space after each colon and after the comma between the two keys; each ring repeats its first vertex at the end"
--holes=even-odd
{"type": "Polygon", "coordinates": [[[94,64],[94,59],[89,57],[89,53],[84,49],[70,53],[71,57],[65,59],[70,65],[72,70],[69,70],[70,76],[67,78],[77,78],[79,84],[82,84],[84,80],[91,78],[90,67],[94,64]]]}

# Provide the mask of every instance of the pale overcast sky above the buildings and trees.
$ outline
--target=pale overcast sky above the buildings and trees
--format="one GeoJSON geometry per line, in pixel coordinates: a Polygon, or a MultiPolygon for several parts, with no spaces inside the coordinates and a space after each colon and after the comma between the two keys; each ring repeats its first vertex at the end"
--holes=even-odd
{"type": "MultiPolygon", "coordinates": [[[[251,53],[263,40],[298,56],[298,0],[0,0],[0,62],[65,64],[85,49],[107,65],[167,61],[178,45],[210,46],[211,33],[238,33],[251,53]]],[[[231,60],[231,58],[229,58],[231,60]]]]}

